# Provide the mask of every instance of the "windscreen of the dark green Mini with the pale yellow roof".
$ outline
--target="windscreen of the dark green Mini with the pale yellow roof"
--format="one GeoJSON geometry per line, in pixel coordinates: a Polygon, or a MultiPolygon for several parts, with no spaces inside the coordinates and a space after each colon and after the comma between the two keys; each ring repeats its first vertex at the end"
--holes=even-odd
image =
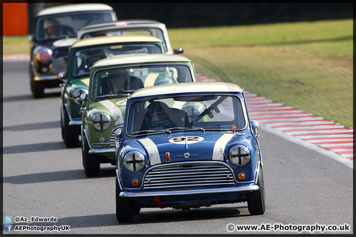
{"type": "Polygon", "coordinates": [[[111,44],[78,50],[71,58],[71,75],[74,78],[89,75],[92,64],[100,59],[115,55],[163,53],[162,50],[159,44],[154,43],[111,44]]]}

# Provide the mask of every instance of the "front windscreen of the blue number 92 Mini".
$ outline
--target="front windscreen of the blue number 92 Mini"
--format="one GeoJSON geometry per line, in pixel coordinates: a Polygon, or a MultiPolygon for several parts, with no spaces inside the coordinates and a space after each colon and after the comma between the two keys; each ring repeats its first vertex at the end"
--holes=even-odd
{"type": "Polygon", "coordinates": [[[245,127],[241,99],[231,94],[192,94],[139,100],[130,105],[127,132],[233,130],[245,127]]]}

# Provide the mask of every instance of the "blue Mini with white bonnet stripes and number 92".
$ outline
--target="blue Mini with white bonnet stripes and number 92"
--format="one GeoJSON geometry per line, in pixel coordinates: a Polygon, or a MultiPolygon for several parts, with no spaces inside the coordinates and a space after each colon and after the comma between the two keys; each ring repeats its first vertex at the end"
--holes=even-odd
{"type": "Polygon", "coordinates": [[[265,212],[258,122],[243,89],[191,82],[139,89],[116,131],[116,216],[133,221],[142,207],[189,209],[247,201],[265,212]]]}

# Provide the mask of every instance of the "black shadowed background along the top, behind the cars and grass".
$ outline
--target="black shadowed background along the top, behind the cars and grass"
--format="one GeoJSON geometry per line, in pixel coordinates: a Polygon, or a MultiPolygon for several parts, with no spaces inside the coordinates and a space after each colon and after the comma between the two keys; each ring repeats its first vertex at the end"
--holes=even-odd
{"type": "MultiPolygon", "coordinates": [[[[68,2],[70,3],[70,2],[68,2]]],[[[67,3],[29,3],[29,30],[41,9],[67,3]]],[[[118,19],[152,19],[167,28],[268,24],[353,18],[353,3],[106,3],[118,19]]]]}

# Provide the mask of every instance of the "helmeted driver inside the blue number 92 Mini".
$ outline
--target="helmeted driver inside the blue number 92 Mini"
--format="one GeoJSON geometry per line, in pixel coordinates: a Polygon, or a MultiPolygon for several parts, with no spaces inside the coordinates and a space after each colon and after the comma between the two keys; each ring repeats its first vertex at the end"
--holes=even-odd
{"type": "Polygon", "coordinates": [[[146,108],[145,122],[149,129],[166,129],[173,127],[170,108],[163,102],[155,101],[146,108]]]}

